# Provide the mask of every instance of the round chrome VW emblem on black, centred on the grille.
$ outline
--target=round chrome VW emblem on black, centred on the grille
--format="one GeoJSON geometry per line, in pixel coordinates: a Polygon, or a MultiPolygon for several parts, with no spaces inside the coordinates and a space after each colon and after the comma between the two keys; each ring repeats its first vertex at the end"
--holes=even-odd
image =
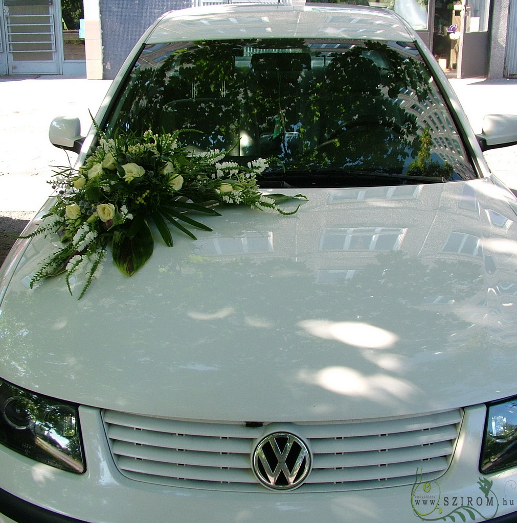
{"type": "Polygon", "coordinates": [[[253,453],[253,470],[262,485],[293,490],[311,471],[311,453],[294,434],[276,432],[260,440],[253,453]]]}

